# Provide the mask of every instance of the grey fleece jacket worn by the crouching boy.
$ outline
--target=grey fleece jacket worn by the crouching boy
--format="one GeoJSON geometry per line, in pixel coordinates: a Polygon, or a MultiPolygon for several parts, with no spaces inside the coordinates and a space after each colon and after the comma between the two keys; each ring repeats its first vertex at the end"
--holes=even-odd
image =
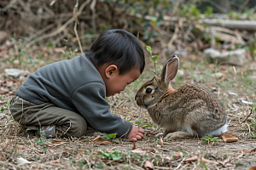
{"type": "Polygon", "coordinates": [[[117,137],[126,138],[131,132],[131,122],[109,111],[105,84],[85,54],[38,69],[16,94],[36,105],[52,103],[74,111],[102,133],[118,133],[117,137]]]}

